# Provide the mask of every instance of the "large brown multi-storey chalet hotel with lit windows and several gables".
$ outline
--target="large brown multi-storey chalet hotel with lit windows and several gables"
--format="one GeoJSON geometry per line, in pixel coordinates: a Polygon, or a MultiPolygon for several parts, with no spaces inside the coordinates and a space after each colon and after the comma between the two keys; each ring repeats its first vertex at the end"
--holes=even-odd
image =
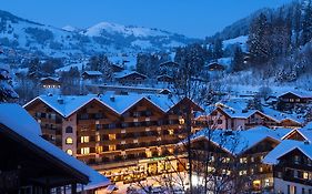
{"type": "MultiPolygon", "coordinates": [[[[170,171],[163,163],[187,136],[187,106],[202,111],[189,99],[125,92],[40,95],[24,109],[46,140],[112,181],[131,182],[170,171]]],[[[172,159],[170,166],[183,171],[187,165],[172,159]]]]}

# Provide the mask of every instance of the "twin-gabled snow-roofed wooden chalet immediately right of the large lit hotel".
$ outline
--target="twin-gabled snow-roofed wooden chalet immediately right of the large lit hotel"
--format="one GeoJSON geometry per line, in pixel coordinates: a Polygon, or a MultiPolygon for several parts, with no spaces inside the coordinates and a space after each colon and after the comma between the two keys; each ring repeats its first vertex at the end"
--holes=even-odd
{"type": "MultiPolygon", "coordinates": [[[[284,133],[284,130],[273,131],[264,126],[246,131],[199,131],[191,137],[194,166],[204,166],[208,162],[210,177],[231,180],[224,184],[235,182],[240,191],[270,192],[273,188],[273,171],[271,165],[262,163],[262,159],[280,143],[284,133]]],[[[181,143],[178,145],[183,147],[181,143]]],[[[194,167],[198,171],[204,169],[194,167]]]]}

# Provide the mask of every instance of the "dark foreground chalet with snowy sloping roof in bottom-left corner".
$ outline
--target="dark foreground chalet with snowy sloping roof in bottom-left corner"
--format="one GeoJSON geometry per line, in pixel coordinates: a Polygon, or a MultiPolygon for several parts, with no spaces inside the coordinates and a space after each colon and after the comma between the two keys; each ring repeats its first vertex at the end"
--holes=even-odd
{"type": "Polygon", "coordinates": [[[0,112],[0,193],[94,193],[110,184],[43,140],[39,124],[21,106],[3,103],[0,112]]]}

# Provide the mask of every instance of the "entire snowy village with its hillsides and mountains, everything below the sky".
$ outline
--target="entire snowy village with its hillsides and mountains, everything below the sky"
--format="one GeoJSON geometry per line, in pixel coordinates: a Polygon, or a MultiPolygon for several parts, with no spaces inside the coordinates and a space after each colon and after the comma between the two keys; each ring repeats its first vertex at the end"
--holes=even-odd
{"type": "Polygon", "coordinates": [[[0,193],[312,194],[309,17],[198,40],[0,11],[0,193]]]}

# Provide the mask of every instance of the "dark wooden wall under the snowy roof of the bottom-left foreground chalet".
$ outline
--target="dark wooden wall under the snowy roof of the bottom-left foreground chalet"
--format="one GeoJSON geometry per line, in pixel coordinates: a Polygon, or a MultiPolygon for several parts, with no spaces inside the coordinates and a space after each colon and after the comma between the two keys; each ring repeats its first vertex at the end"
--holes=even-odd
{"type": "Polygon", "coordinates": [[[50,194],[78,184],[89,177],[0,124],[0,193],[50,194]]]}

